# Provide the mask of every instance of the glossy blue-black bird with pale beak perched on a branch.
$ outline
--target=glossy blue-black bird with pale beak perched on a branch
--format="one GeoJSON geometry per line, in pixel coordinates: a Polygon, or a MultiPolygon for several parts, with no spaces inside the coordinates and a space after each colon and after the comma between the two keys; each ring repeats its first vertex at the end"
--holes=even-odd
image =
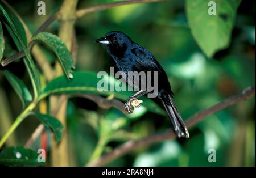
{"type": "MultiPolygon", "coordinates": [[[[177,137],[189,138],[188,130],[174,103],[174,94],[171,90],[167,74],[158,61],[156,61],[155,57],[147,49],[134,43],[133,40],[123,32],[109,32],[104,37],[97,39],[96,42],[104,44],[108,54],[113,58],[117,69],[123,71],[126,75],[129,71],[138,71],[138,73],[140,71],[158,71],[159,89],[156,103],[163,104],[172,125],[174,125],[177,137]]],[[[126,83],[130,84],[128,80],[126,80],[126,83]]],[[[133,88],[138,88],[138,92],[133,96],[130,96],[126,101],[125,108],[129,113],[133,112],[133,107],[131,107],[130,101],[148,94],[149,92],[147,90],[141,90],[141,86],[138,86],[137,84],[133,83],[130,85],[133,86],[133,88]]]]}

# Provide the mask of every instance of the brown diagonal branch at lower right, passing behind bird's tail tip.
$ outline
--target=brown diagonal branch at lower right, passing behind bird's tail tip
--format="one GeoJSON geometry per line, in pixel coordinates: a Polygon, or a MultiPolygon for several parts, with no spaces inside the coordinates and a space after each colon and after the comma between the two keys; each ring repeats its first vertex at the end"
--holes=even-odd
{"type": "MultiPolygon", "coordinates": [[[[222,100],[220,103],[217,103],[212,107],[209,107],[207,109],[204,109],[203,111],[195,113],[195,115],[189,117],[185,121],[185,124],[188,126],[188,128],[191,128],[193,125],[203,120],[203,118],[213,115],[213,113],[221,111],[222,109],[225,109],[230,105],[236,104],[242,100],[248,100],[252,98],[254,95],[255,95],[255,86],[248,87],[245,90],[243,90],[240,94],[230,96],[228,99],[222,100]]],[[[172,129],[170,129],[170,130],[167,130],[166,132],[150,135],[146,138],[138,139],[136,141],[128,141],[126,143],[123,143],[123,145],[117,147],[117,149],[110,152],[109,154],[102,156],[100,159],[95,160],[93,162],[89,162],[86,166],[103,166],[106,163],[109,163],[112,160],[118,158],[119,156],[122,156],[134,149],[137,149],[138,147],[146,146],[152,143],[162,142],[162,141],[166,141],[174,138],[176,138],[176,134],[172,129]]]]}

